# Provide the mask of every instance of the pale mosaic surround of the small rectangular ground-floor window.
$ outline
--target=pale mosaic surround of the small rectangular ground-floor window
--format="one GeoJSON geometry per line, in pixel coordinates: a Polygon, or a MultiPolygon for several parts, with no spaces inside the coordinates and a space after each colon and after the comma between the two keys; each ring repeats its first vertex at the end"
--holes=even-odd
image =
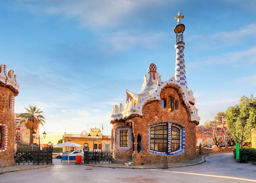
{"type": "Polygon", "coordinates": [[[118,126],[115,128],[115,148],[118,151],[129,151],[132,148],[132,128],[128,126],[118,126]],[[120,147],[120,130],[128,130],[128,147],[120,147]]]}

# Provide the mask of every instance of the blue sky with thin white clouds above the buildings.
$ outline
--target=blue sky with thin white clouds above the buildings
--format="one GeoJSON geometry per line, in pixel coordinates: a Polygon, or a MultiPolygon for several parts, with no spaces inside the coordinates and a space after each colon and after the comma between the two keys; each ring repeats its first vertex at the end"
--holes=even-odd
{"type": "MultiPolygon", "coordinates": [[[[256,96],[256,1],[0,0],[0,63],[14,70],[15,113],[44,111],[45,143],[103,125],[138,93],[151,63],[175,74],[178,12],[200,124],[256,96]]],[[[42,134],[41,134],[42,135],[42,134]]],[[[41,141],[41,143],[44,143],[41,141]]]]}

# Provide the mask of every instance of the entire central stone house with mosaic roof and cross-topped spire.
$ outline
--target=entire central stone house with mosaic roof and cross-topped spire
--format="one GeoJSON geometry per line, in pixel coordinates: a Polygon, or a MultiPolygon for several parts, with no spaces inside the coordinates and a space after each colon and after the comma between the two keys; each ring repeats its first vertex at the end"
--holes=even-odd
{"type": "Polygon", "coordinates": [[[114,163],[132,161],[133,165],[194,159],[196,153],[197,115],[193,92],[188,90],[184,65],[183,32],[178,13],[175,75],[162,81],[154,63],[138,94],[126,90],[127,100],[115,105],[111,115],[114,163]]]}

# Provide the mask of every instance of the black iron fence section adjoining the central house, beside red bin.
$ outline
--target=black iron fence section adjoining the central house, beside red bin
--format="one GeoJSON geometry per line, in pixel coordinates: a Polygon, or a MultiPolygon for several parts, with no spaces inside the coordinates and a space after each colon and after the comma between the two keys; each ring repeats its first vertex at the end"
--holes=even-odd
{"type": "Polygon", "coordinates": [[[88,163],[111,163],[113,152],[93,151],[84,149],[84,164],[88,163]]]}

